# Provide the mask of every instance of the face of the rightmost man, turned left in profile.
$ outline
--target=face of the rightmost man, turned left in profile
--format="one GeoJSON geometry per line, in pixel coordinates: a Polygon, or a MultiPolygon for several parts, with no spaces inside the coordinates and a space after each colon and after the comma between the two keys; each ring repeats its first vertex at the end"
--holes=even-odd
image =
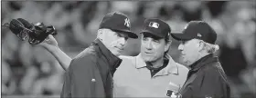
{"type": "Polygon", "coordinates": [[[187,65],[193,64],[198,60],[198,43],[197,39],[192,39],[188,41],[181,41],[181,44],[178,45],[178,50],[181,51],[181,57],[187,65]]]}

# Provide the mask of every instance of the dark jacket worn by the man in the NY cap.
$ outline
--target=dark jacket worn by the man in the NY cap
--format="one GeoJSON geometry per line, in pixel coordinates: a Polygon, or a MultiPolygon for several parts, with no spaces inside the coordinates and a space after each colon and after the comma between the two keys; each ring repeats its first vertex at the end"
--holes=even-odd
{"type": "Polygon", "coordinates": [[[112,75],[121,62],[96,39],[71,61],[60,97],[111,98],[112,75]]]}

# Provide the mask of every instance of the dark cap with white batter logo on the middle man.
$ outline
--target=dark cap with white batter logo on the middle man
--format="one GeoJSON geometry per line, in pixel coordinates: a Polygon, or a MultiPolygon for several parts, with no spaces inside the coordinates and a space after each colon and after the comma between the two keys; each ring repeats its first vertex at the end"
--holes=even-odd
{"type": "Polygon", "coordinates": [[[141,32],[153,34],[159,38],[169,37],[171,28],[163,20],[157,18],[150,18],[144,20],[144,27],[141,32]]]}

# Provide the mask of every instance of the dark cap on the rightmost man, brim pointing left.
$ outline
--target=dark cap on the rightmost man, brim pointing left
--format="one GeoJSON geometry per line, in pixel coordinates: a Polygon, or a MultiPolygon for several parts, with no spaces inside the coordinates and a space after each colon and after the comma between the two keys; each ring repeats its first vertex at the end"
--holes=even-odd
{"type": "Polygon", "coordinates": [[[181,34],[171,34],[178,41],[200,39],[209,44],[215,44],[217,34],[213,28],[204,21],[190,21],[181,34]]]}

